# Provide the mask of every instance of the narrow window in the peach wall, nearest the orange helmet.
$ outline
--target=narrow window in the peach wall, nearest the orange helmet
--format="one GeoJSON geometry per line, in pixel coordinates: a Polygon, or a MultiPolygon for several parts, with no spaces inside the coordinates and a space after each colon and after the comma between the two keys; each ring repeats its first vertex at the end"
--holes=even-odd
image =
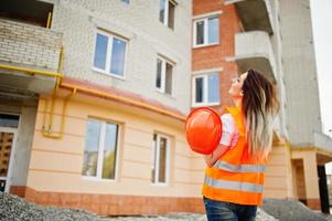
{"type": "Polygon", "coordinates": [[[152,183],[169,182],[169,151],[170,139],[167,136],[153,135],[152,183]]]}

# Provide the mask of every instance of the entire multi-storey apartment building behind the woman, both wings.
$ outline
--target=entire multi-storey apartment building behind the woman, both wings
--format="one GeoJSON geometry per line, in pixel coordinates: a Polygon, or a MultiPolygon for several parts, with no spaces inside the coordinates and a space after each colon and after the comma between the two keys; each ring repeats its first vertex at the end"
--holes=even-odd
{"type": "Polygon", "coordinates": [[[311,24],[296,38],[310,71],[296,71],[306,54],[291,50],[292,22],[310,23],[303,2],[288,21],[286,0],[3,1],[1,190],[100,214],[204,211],[205,165],[185,141],[185,116],[199,106],[222,113],[231,78],[254,67],[281,101],[265,197],[320,208],[317,168],[332,147],[313,137],[298,146],[297,134],[310,138],[314,126],[322,138],[311,24]],[[301,104],[288,78],[299,74],[313,94],[301,104]]]}

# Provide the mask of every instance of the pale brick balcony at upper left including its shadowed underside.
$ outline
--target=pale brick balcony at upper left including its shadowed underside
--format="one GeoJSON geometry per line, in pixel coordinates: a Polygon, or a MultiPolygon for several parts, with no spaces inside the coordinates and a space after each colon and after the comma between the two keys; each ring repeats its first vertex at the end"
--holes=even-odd
{"type": "Polygon", "coordinates": [[[51,93],[56,78],[36,73],[57,72],[61,46],[61,33],[42,27],[0,19],[1,94],[7,92],[10,96],[14,93],[51,93]]]}

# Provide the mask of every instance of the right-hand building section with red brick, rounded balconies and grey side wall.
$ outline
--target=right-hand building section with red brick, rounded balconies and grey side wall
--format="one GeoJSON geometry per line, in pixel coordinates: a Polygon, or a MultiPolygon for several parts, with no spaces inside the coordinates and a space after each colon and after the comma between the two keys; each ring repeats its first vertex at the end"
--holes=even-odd
{"type": "Polygon", "coordinates": [[[280,113],[265,197],[329,212],[332,140],[322,134],[309,0],[194,0],[192,65],[192,106],[222,112],[232,105],[231,80],[248,69],[276,83],[280,113]]]}

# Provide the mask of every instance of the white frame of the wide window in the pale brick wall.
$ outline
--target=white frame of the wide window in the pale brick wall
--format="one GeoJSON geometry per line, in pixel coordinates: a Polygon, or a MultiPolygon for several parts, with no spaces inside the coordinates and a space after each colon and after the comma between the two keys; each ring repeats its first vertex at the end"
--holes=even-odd
{"type": "Polygon", "coordinates": [[[116,78],[119,78],[119,80],[126,80],[125,77],[125,74],[126,74],[126,64],[127,64],[127,54],[128,54],[128,45],[129,45],[129,41],[127,39],[124,39],[119,35],[116,35],[116,34],[111,34],[109,32],[106,32],[106,31],[103,31],[100,29],[96,29],[95,31],[95,46],[94,46],[94,53],[93,53],[93,61],[92,61],[92,66],[93,66],[93,70],[98,72],[98,73],[101,73],[101,74],[106,74],[108,76],[113,76],[113,77],[116,77],[116,78]],[[95,53],[96,53],[96,43],[97,43],[97,34],[103,34],[103,35],[106,35],[108,38],[108,43],[107,43],[107,53],[106,53],[106,66],[105,66],[105,70],[101,70],[99,67],[96,67],[95,64],[94,64],[94,61],[95,61],[95,53]],[[120,76],[118,74],[114,74],[114,73],[110,73],[110,72],[107,72],[107,70],[110,70],[110,59],[111,59],[111,52],[113,52],[113,41],[114,41],[114,38],[116,39],[119,39],[124,42],[126,42],[126,51],[125,51],[125,63],[124,63],[124,75],[120,76]]]}

